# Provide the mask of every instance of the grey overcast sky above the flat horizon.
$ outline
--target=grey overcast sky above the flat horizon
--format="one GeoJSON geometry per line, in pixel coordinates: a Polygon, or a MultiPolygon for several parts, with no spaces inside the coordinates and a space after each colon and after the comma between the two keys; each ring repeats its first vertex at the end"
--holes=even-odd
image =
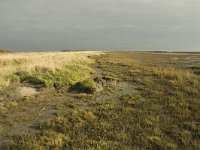
{"type": "Polygon", "coordinates": [[[200,0],[0,0],[0,48],[200,51],[200,0]]]}

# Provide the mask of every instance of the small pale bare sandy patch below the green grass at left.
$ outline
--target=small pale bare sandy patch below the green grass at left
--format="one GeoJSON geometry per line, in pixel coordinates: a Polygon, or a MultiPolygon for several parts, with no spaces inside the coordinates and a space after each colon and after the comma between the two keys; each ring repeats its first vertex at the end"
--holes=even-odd
{"type": "Polygon", "coordinates": [[[32,87],[20,87],[18,90],[22,97],[34,96],[39,93],[35,88],[32,87]]]}

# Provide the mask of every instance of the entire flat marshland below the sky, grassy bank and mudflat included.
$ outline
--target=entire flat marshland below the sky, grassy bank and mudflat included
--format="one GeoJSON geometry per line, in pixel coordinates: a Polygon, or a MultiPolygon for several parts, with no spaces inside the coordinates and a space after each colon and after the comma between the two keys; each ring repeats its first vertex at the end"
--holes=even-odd
{"type": "Polygon", "coordinates": [[[200,149],[200,54],[0,54],[0,149],[200,149]]]}

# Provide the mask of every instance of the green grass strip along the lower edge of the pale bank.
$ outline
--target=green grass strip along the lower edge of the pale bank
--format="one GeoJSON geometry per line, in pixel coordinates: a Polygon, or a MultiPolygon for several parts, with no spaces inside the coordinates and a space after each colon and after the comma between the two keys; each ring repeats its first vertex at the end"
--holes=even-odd
{"type": "Polygon", "coordinates": [[[63,87],[74,84],[78,81],[88,78],[92,70],[84,65],[66,65],[62,69],[55,71],[48,68],[36,67],[31,72],[19,71],[10,75],[11,82],[25,82],[33,85],[42,85],[44,87],[63,87]]]}

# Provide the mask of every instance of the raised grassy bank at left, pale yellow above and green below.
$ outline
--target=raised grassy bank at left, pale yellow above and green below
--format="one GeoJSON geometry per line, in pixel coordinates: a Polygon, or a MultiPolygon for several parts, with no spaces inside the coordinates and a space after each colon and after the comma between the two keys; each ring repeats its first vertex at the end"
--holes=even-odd
{"type": "Polygon", "coordinates": [[[87,56],[98,52],[41,52],[0,54],[0,88],[12,82],[39,82],[44,86],[64,85],[89,77],[87,56]]]}

